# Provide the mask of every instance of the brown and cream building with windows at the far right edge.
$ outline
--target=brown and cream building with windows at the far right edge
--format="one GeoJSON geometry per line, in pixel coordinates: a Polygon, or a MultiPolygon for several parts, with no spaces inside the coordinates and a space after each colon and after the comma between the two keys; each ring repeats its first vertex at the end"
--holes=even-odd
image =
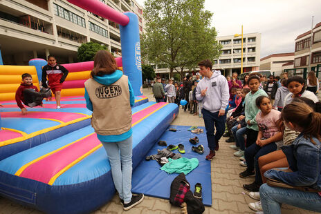
{"type": "Polygon", "coordinates": [[[312,70],[321,72],[321,22],[295,39],[294,68],[307,68],[309,71],[310,66],[312,70]]]}

